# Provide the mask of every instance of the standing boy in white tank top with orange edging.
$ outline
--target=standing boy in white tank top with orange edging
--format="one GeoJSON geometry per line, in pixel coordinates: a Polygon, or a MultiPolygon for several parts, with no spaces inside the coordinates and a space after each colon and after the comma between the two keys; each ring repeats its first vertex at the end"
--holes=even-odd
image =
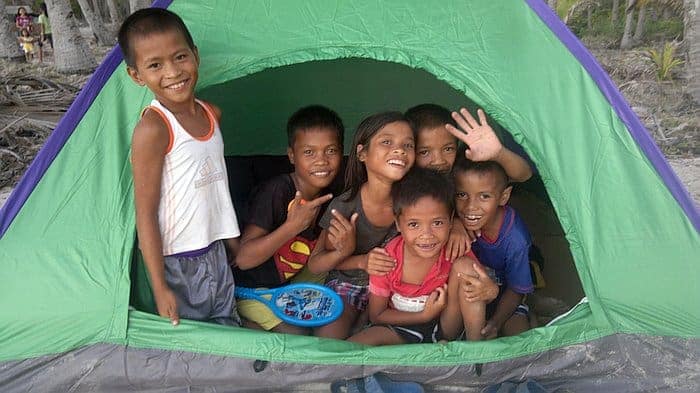
{"type": "Polygon", "coordinates": [[[147,8],[119,31],[129,76],[155,100],[134,128],[136,230],[158,314],[239,325],[227,252],[238,250],[219,130],[194,96],[199,56],[182,19],[147,8]]]}

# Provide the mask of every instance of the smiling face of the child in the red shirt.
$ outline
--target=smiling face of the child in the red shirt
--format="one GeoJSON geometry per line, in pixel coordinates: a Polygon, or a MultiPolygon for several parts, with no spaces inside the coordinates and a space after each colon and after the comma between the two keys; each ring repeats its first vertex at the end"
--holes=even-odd
{"type": "Polygon", "coordinates": [[[396,227],[404,239],[404,255],[436,261],[450,237],[451,217],[447,205],[430,196],[402,207],[396,227]]]}

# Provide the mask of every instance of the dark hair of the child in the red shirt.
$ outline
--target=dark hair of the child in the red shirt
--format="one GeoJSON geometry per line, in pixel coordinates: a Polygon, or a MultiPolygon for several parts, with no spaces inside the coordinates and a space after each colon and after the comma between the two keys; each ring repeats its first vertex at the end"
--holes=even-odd
{"type": "Polygon", "coordinates": [[[430,197],[443,203],[450,216],[455,209],[455,191],[451,179],[426,168],[413,167],[401,180],[391,185],[394,215],[401,215],[406,206],[413,206],[419,199],[430,197]]]}

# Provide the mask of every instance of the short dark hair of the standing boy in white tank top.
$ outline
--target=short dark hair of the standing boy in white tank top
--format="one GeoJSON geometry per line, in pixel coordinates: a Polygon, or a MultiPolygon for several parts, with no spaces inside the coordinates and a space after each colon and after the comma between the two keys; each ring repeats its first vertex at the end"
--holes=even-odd
{"type": "Polygon", "coordinates": [[[122,48],[124,61],[129,67],[134,67],[134,53],[131,48],[134,37],[145,37],[153,33],[164,33],[175,30],[182,34],[190,49],[195,45],[187,30],[185,22],[176,13],[163,8],[144,8],[129,15],[119,28],[119,46],[122,48]]]}

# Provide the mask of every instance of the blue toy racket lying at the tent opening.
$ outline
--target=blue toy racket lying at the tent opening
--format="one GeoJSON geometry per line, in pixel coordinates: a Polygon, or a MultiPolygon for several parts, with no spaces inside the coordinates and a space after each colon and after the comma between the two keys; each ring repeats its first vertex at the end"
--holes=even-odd
{"type": "Polygon", "coordinates": [[[289,324],[315,327],[329,324],[343,312],[343,300],[332,289],[308,283],[273,289],[236,287],[236,297],[254,299],[268,306],[289,324]]]}

